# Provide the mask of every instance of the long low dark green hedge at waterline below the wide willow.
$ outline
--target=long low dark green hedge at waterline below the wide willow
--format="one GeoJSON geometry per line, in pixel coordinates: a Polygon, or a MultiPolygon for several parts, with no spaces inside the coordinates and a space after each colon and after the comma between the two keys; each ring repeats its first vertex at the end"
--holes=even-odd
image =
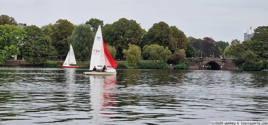
{"type": "Polygon", "coordinates": [[[169,69],[169,65],[163,62],[137,62],[137,69],[169,69]]]}

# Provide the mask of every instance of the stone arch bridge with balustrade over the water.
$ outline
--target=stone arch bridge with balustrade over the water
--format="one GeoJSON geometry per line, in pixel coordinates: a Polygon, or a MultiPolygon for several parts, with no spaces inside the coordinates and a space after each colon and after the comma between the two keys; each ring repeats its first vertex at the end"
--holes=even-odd
{"type": "Polygon", "coordinates": [[[211,66],[211,70],[241,70],[235,66],[233,59],[226,58],[190,58],[189,69],[205,69],[206,65],[211,66]]]}

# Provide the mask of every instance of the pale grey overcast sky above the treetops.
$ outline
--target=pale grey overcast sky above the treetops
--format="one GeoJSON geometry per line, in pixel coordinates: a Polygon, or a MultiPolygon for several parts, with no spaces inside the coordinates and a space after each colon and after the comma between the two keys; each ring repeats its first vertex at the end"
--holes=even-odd
{"type": "Polygon", "coordinates": [[[155,23],[177,26],[186,37],[215,41],[244,40],[244,30],[268,25],[268,0],[1,0],[0,15],[18,23],[73,24],[91,18],[112,24],[120,18],[135,20],[148,31],[155,23]]]}

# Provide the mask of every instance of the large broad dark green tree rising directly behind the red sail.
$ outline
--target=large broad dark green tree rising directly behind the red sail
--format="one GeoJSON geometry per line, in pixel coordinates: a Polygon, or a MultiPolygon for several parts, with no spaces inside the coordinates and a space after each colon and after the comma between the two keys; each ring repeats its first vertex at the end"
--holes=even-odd
{"type": "Polygon", "coordinates": [[[144,29],[134,20],[121,18],[113,24],[106,24],[102,30],[104,41],[116,48],[118,54],[123,58],[123,49],[128,48],[128,44],[141,45],[141,38],[144,29]],[[107,26],[106,26],[107,25],[107,26]]]}

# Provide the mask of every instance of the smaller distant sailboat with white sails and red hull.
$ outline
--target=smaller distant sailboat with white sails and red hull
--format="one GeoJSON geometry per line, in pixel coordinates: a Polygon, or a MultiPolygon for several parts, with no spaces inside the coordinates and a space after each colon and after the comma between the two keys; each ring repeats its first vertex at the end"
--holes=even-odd
{"type": "Polygon", "coordinates": [[[63,65],[61,67],[62,68],[79,68],[78,66],[75,66],[75,65],[76,65],[76,60],[74,57],[74,50],[73,50],[72,45],[70,44],[70,50],[69,50],[67,57],[66,57],[63,65]]]}

